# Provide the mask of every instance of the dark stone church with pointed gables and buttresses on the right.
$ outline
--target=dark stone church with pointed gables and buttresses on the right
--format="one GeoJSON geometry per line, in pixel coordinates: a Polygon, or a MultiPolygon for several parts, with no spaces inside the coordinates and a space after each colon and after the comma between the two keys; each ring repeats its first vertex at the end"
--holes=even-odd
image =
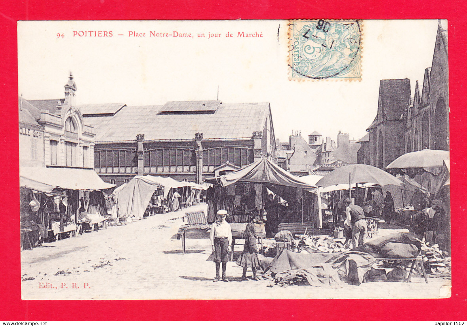
{"type": "Polygon", "coordinates": [[[378,111],[368,127],[369,151],[361,161],[384,169],[397,157],[422,149],[449,150],[449,68],[447,29],[439,21],[432,66],[423,84],[409,79],[381,80],[378,111]],[[368,156],[368,157],[367,157],[368,156]]]}

